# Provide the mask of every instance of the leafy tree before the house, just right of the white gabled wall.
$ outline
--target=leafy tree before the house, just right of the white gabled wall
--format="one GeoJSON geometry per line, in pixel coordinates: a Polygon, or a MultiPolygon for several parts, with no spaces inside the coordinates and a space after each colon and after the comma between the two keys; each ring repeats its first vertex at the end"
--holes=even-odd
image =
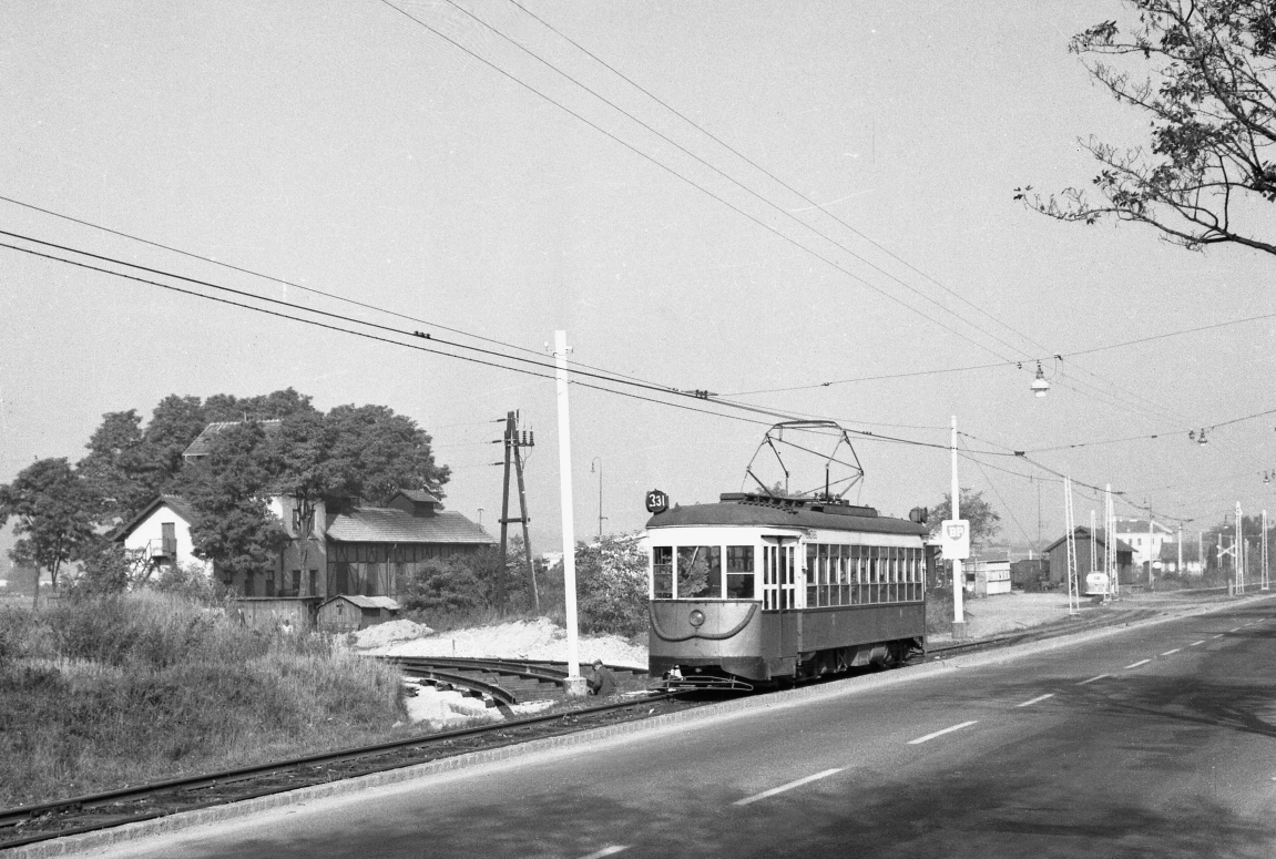
{"type": "Polygon", "coordinates": [[[246,577],[274,567],[288,541],[268,505],[276,472],[259,422],[230,426],[213,437],[209,454],[186,470],[182,485],[197,513],[190,527],[197,555],[223,573],[246,577]]]}

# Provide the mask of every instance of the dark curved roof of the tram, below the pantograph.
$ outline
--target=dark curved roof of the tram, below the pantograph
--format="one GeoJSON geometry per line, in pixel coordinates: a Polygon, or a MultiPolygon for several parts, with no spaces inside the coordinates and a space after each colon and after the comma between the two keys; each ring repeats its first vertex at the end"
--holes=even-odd
{"type": "Polygon", "coordinates": [[[723,494],[722,500],[713,504],[671,507],[647,521],[648,528],[713,525],[833,528],[870,534],[915,534],[917,536],[930,534],[930,528],[925,525],[878,516],[878,512],[872,507],[734,493],[723,494]]]}

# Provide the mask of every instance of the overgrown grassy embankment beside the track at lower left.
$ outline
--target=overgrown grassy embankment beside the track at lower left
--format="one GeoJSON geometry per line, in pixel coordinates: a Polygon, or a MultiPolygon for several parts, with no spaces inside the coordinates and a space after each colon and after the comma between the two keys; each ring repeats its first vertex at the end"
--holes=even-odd
{"type": "Polygon", "coordinates": [[[398,674],[152,592],[0,608],[0,808],[387,739],[398,674]]]}

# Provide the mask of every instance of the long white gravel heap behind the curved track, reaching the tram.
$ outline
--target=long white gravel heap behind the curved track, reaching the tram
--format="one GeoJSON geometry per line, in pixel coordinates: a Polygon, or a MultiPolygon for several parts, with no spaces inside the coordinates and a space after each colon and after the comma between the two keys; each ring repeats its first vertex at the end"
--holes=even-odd
{"type": "MultiPolygon", "coordinates": [[[[396,620],[380,627],[389,627],[396,620]]],[[[413,624],[415,625],[415,624],[413,624]]],[[[403,641],[394,636],[373,643],[364,634],[379,629],[371,627],[359,633],[359,648],[380,656],[468,656],[475,659],[531,659],[567,660],[567,631],[546,618],[517,620],[494,627],[453,629],[403,641]]],[[[647,648],[638,647],[619,636],[581,636],[582,662],[601,659],[609,665],[647,668],[647,648]]]]}

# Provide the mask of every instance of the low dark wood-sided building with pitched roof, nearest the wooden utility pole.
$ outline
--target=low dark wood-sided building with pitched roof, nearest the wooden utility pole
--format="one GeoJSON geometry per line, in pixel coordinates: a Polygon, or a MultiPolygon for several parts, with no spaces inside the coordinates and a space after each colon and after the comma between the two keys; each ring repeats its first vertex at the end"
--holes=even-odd
{"type": "Polygon", "coordinates": [[[496,539],[425,490],[402,490],[387,507],[352,507],[327,527],[330,594],[383,596],[429,560],[478,551],[496,539]]]}

